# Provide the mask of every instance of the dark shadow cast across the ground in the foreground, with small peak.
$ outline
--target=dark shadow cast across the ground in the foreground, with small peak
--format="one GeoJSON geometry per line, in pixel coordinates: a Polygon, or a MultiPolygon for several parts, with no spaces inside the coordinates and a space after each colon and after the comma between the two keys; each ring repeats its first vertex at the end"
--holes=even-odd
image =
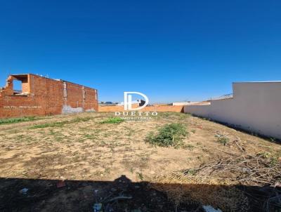
{"type": "MultiPolygon", "coordinates": [[[[0,211],[93,211],[95,203],[103,204],[103,212],[204,211],[200,201],[190,199],[178,206],[174,201],[169,201],[165,190],[172,188],[180,191],[183,187],[191,187],[197,192],[232,189],[221,185],[133,183],[125,175],[111,182],[0,178],[0,211]],[[162,192],[154,187],[161,187],[162,192]],[[25,188],[28,190],[22,190],[25,188]]],[[[235,186],[237,188],[249,200],[247,211],[255,212],[265,211],[264,206],[271,192],[276,192],[276,188],[272,187],[235,186]]],[[[273,206],[269,206],[270,211],[280,211],[270,207],[273,206]]]]}

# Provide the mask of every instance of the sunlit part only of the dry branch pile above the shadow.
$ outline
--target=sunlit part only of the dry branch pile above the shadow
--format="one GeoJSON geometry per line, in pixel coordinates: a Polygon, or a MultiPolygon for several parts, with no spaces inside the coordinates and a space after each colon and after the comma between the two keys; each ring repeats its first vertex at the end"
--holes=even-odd
{"type": "MultiPolygon", "coordinates": [[[[190,170],[183,172],[190,173],[190,170]]],[[[275,186],[281,180],[281,162],[264,154],[242,155],[203,165],[194,169],[192,173],[203,178],[238,181],[242,185],[275,186]]]]}

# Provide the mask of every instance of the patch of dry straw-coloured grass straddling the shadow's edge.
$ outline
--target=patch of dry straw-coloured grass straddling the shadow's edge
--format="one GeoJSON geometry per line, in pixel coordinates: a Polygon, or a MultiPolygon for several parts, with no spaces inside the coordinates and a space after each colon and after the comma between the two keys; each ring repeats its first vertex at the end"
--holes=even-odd
{"type": "Polygon", "coordinates": [[[181,203],[211,205],[222,211],[247,211],[247,196],[226,180],[204,179],[183,173],[151,179],[152,188],[165,192],[176,206],[181,203]],[[180,186],[179,186],[180,185],[180,186]]]}

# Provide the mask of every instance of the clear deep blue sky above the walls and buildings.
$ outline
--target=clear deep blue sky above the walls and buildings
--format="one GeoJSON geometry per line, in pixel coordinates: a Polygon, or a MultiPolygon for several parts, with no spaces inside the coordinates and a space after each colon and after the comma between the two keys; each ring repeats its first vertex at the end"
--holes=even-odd
{"type": "Polygon", "coordinates": [[[0,86],[34,73],[151,102],[281,80],[281,1],[0,0],[0,86]]]}

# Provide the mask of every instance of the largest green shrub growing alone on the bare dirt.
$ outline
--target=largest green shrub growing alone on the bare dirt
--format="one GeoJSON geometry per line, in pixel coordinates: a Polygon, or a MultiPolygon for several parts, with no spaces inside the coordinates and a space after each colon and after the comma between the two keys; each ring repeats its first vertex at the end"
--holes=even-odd
{"type": "Polygon", "coordinates": [[[188,131],[183,124],[166,124],[159,128],[158,133],[148,133],[145,141],[159,147],[178,147],[183,145],[183,138],[188,136],[188,131]]]}

